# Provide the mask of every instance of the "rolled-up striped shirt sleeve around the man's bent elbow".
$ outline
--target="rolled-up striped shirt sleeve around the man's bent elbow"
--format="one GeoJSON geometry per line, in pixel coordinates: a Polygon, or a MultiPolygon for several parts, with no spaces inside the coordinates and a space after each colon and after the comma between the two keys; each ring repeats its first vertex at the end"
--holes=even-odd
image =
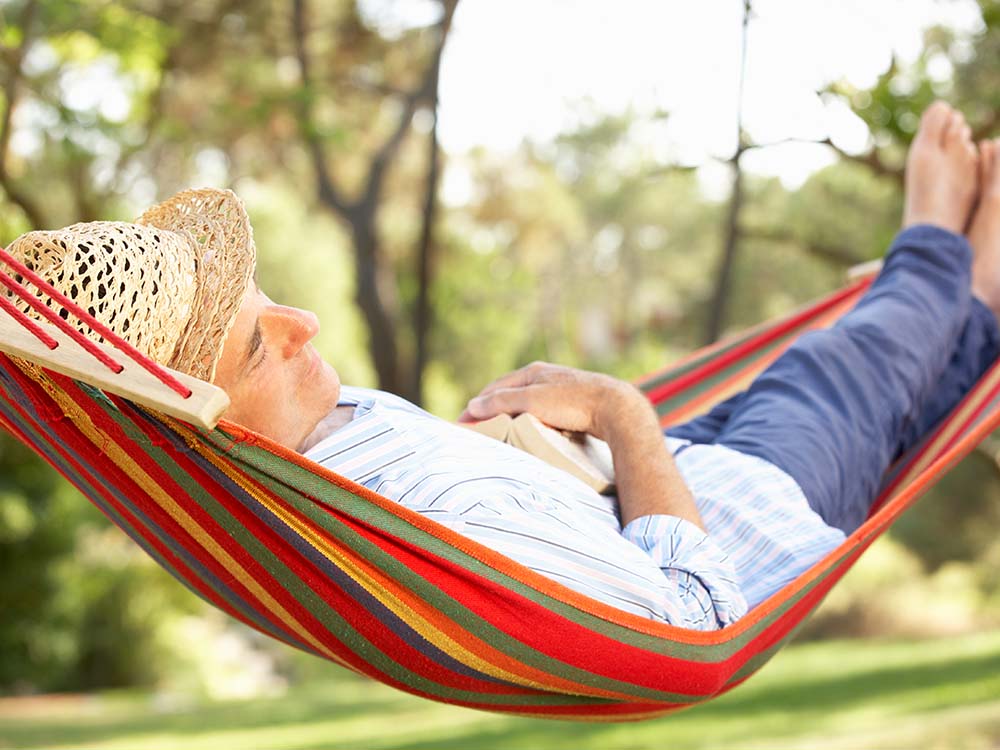
{"type": "Polygon", "coordinates": [[[642,516],[628,523],[622,536],[649,555],[675,584],[679,598],[688,600],[682,602],[685,610],[705,615],[714,612],[714,623],[689,622],[687,627],[721,628],[747,613],[746,597],[729,555],[690,521],[677,516],[642,516]]]}

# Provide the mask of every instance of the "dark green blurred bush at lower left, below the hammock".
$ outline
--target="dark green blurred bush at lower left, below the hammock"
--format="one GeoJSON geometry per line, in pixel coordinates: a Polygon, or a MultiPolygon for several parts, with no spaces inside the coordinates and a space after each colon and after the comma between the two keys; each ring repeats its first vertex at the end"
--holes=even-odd
{"type": "Polygon", "coordinates": [[[169,578],[0,434],[0,693],[152,683],[160,624],[194,606],[169,578]]]}

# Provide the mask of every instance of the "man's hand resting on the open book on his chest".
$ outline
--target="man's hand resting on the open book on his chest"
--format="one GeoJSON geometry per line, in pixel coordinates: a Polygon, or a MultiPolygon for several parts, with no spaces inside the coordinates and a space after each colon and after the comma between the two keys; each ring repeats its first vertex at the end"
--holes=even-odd
{"type": "Polygon", "coordinates": [[[636,410],[652,414],[645,396],[629,383],[610,375],[532,362],[486,386],[469,401],[458,421],[530,412],[556,429],[608,440],[612,425],[636,410]]]}

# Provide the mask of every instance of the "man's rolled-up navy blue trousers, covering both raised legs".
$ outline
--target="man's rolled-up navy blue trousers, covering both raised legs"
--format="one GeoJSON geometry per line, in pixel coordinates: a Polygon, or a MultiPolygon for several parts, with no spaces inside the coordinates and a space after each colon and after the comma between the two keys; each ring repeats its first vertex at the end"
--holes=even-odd
{"type": "Polygon", "coordinates": [[[835,326],[804,334],[747,390],[667,434],[769,461],[850,533],[890,464],[1000,356],[996,317],[969,291],[971,258],[960,235],[903,230],[835,326]]]}

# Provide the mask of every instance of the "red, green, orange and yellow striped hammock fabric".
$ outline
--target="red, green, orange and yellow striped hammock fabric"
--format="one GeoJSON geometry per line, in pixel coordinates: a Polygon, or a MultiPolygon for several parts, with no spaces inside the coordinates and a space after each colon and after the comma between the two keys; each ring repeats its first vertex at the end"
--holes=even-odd
{"type": "MultiPolygon", "coordinates": [[[[870,283],[642,379],[664,425],[746,387],[870,283]]],[[[877,512],[837,550],[721,631],[696,632],[572,592],[222,422],[171,417],[0,355],[0,424],[196,594],[297,648],[416,695],[560,719],[623,721],[747,679],[858,556],[1000,423],[994,367],[889,472],[877,512]]]]}

